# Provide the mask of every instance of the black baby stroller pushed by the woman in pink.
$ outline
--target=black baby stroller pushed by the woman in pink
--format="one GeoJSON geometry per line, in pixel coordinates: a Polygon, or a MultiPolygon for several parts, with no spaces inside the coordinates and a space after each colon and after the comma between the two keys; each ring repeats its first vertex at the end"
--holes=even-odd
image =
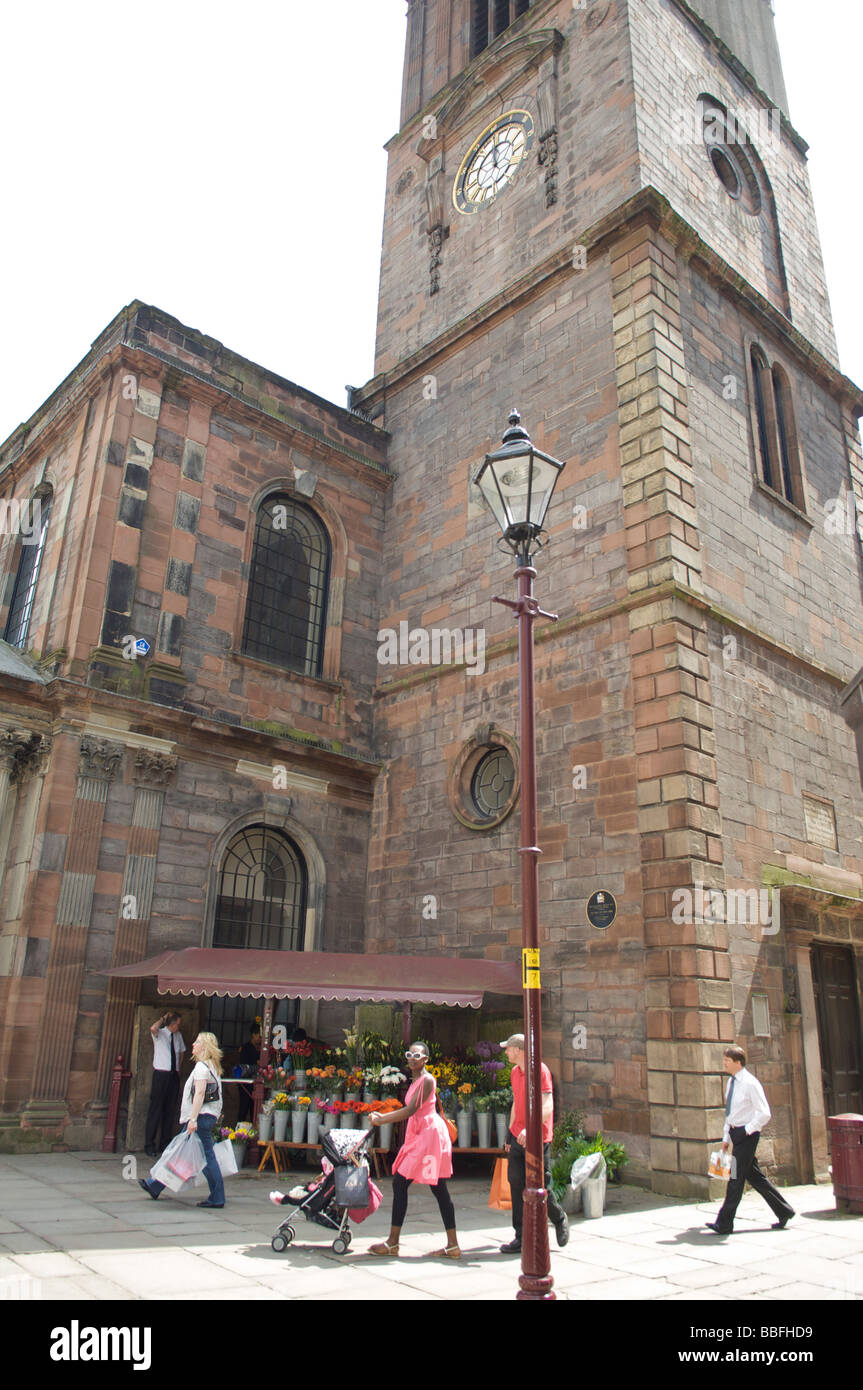
{"type": "Polygon", "coordinates": [[[372,1136],[371,1129],[360,1134],[339,1129],[321,1136],[324,1177],[309,1187],[293,1188],[281,1198],[281,1205],[288,1204],[295,1209],[270,1241],[275,1251],[288,1250],[296,1234],[295,1222],[302,1212],[306,1220],[335,1232],[332,1248],[336,1255],[347,1254],[349,1219],[364,1220],[381,1205],[381,1191],[368,1180],[368,1159],[363,1154],[372,1136]]]}

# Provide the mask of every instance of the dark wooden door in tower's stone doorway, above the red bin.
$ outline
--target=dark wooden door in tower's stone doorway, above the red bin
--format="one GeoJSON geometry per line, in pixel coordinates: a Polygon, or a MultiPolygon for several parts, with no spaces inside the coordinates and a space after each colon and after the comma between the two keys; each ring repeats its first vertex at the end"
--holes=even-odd
{"type": "Polygon", "coordinates": [[[814,942],[812,980],[827,1115],[863,1115],[863,1045],[853,951],[814,942]]]}

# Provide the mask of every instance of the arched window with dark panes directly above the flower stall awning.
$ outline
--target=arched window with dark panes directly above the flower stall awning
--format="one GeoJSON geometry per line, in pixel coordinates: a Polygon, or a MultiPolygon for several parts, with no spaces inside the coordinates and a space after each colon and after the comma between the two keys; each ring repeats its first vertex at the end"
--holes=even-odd
{"type": "MultiPolygon", "coordinates": [[[[225,851],[215,899],[213,945],[235,951],[302,951],[306,937],[306,863],[288,835],[249,826],[225,851]]],[[[207,1029],[220,1047],[235,1048],[249,1034],[263,1001],[213,998],[207,1029]]],[[[299,999],[279,999],[275,1023],[293,1027],[299,999]]]]}

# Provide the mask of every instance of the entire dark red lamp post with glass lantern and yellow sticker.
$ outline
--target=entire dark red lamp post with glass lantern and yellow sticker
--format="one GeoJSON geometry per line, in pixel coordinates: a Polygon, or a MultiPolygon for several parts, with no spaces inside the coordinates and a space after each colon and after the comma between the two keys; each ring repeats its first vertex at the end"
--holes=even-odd
{"type": "Polygon", "coordinates": [[[518,599],[495,595],[518,620],[518,706],[521,752],[521,976],[525,1051],[525,1188],[521,1240],[520,1300],[554,1298],[549,1258],[548,1200],[542,1144],[542,1011],[539,976],[539,855],[536,844],[536,734],[534,695],[534,623],[557,621],[534,598],[532,552],[564,464],[535,449],[513,410],[502,448],[485,456],[477,486],[495,514],[504,543],[517,559],[518,599]]]}

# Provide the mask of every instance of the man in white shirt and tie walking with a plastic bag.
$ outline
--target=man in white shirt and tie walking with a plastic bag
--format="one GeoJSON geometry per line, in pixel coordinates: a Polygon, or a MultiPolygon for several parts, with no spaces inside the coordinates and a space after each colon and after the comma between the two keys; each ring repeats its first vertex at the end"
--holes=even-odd
{"type": "Polygon", "coordinates": [[[725,1048],[724,1065],[730,1081],[725,1087],[723,1152],[727,1151],[730,1143],[734,1145],[732,1176],[728,1180],[725,1201],[720,1207],[716,1220],[709,1220],[707,1226],[717,1236],[731,1234],[734,1213],[743,1195],[743,1186],[749,1183],[756,1193],[760,1193],[777,1218],[773,1229],[782,1230],[794,1216],[794,1207],[789,1207],[782,1194],[764,1177],[755,1156],[762,1129],[770,1119],[764,1087],[752,1072],[746,1070],[746,1054],[742,1047],[725,1048]]]}

